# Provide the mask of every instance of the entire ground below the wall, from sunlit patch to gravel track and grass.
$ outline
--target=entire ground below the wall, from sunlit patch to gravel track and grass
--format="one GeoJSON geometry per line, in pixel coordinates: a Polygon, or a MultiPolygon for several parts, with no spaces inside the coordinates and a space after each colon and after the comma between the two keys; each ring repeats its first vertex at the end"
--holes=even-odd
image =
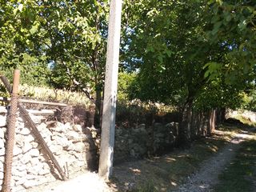
{"type": "Polygon", "coordinates": [[[189,150],[174,149],[162,157],[115,165],[108,186],[98,174],[88,172],[37,192],[256,191],[245,187],[256,184],[254,139],[256,134],[244,127],[222,126],[211,137],[193,142],[189,150]]]}

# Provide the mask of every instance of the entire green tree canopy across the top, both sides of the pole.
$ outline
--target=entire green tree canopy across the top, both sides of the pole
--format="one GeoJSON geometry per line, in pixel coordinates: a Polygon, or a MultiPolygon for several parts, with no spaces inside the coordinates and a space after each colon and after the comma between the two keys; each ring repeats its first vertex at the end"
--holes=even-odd
{"type": "MultiPolygon", "coordinates": [[[[255,7],[244,0],[125,0],[122,92],[183,112],[241,106],[255,84],[255,7]]],[[[0,70],[18,67],[30,85],[82,90],[99,114],[108,14],[108,0],[1,1],[0,70]]]]}

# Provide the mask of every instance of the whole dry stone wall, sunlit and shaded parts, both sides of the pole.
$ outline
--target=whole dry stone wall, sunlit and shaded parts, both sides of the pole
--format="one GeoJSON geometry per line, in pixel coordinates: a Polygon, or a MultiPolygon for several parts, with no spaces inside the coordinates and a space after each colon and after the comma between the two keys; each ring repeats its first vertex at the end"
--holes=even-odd
{"type": "MultiPolygon", "coordinates": [[[[67,108],[64,112],[57,114],[55,118],[44,118],[33,114],[30,114],[30,117],[36,123],[42,138],[50,147],[66,177],[86,169],[95,170],[98,166],[99,130],[82,126],[86,124],[85,119],[78,118],[75,110],[67,108]]],[[[6,108],[0,106],[0,190],[4,178],[7,117],[6,108]]],[[[206,118],[200,118],[196,122],[192,126],[194,130],[200,132],[197,135],[202,135],[206,118]]],[[[33,189],[34,186],[60,179],[58,171],[42,150],[37,138],[20,117],[15,130],[12,191],[26,191],[33,189]]],[[[178,122],[152,123],[147,126],[141,124],[134,128],[117,126],[114,162],[165,153],[175,145],[177,138],[178,122]]]]}

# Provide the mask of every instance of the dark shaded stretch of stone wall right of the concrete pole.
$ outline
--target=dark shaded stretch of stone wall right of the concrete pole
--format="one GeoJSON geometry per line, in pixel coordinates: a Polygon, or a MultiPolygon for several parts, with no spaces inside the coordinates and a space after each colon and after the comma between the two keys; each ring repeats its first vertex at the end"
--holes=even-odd
{"type": "Polygon", "coordinates": [[[178,122],[166,125],[154,123],[150,127],[141,124],[136,128],[117,128],[114,143],[114,162],[126,158],[143,158],[170,150],[177,141],[178,122]]]}

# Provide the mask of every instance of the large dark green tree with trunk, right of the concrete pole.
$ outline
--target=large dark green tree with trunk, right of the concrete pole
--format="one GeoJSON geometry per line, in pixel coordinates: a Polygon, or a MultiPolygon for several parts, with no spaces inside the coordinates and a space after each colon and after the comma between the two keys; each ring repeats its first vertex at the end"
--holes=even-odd
{"type": "MultiPolygon", "coordinates": [[[[137,64],[139,67],[131,96],[143,101],[181,106],[179,139],[182,144],[190,142],[194,102],[209,101],[207,97],[212,96],[218,87],[224,91],[216,97],[225,97],[220,97],[218,101],[222,101],[220,103],[223,105],[233,104],[227,96],[238,96],[239,91],[245,88],[241,85],[253,77],[252,67],[242,72],[239,67],[242,63],[254,61],[251,60],[253,54],[238,59],[239,55],[250,52],[249,47],[242,48],[239,54],[234,51],[238,44],[234,41],[239,33],[227,29],[226,34],[222,34],[225,28],[222,29],[214,22],[214,18],[222,17],[222,13],[216,11],[218,6],[214,4],[220,1],[207,2],[132,1],[134,10],[130,14],[133,16],[130,16],[130,20],[127,18],[130,33],[123,52],[127,52],[126,57],[130,58],[127,61],[132,66],[137,64]],[[234,54],[238,56],[234,57],[234,54]],[[236,79],[237,86],[231,83],[230,73],[239,77],[236,79]],[[225,80],[222,80],[223,76],[225,80]]],[[[217,106],[217,103],[212,103],[212,106],[217,106]]]]}

